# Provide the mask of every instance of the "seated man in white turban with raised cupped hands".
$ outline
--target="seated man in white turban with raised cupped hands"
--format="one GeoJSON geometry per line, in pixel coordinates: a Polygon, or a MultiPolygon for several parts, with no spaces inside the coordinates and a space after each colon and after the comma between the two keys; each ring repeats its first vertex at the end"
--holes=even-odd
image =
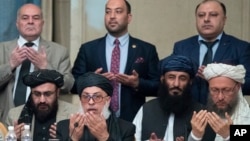
{"type": "Polygon", "coordinates": [[[203,75],[209,83],[207,110],[194,112],[189,140],[230,140],[230,124],[250,124],[250,108],[242,95],[243,65],[209,64],[203,75]]]}

